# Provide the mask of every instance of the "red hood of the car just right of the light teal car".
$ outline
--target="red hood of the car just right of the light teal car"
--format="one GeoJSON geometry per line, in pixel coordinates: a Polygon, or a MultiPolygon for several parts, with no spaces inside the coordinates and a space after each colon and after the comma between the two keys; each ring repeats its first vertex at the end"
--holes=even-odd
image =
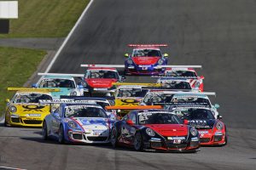
{"type": "Polygon", "coordinates": [[[112,82],[117,82],[114,78],[86,78],[85,81],[91,88],[111,88],[112,82]]]}

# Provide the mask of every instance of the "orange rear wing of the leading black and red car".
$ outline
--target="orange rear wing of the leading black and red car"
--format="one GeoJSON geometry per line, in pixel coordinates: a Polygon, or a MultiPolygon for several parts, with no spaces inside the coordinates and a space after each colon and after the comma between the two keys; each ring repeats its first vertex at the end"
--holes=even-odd
{"type": "Polygon", "coordinates": [[[107,110],[146,110],[146,109],[163,109],[161,105],[113,105],[106,106],[107,110]]]}

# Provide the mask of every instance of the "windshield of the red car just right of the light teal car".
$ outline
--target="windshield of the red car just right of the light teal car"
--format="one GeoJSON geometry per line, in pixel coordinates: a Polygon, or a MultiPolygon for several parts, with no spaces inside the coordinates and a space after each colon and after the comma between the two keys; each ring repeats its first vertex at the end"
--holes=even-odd
{"type": "Polygon", "coordinates": [[[116,71],[92,70],[88,71],[85,78],[113,78],[119,79],[116,71]]]}

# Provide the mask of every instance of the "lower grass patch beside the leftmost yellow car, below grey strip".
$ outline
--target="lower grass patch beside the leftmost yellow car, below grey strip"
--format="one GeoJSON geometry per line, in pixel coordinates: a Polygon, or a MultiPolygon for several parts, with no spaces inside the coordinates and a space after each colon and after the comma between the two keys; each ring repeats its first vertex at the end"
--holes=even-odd
{"type": "Polygon", "coordinates": [[[5,109],[5,99],[14,94],[8,92],[7,88],[22,87],[37,70],[45,54],[43,50],[0,48],[0,116],[5,109]]]}

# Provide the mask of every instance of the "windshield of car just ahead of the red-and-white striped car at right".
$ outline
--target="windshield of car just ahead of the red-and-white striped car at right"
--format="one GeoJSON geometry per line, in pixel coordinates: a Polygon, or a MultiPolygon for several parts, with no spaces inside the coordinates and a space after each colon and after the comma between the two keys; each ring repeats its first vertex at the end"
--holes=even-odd
{"type": "MultiPolygon", "coordinates": [[[[161,80],[159,81],[161,82],[161,80]]],[[[170,89],[191,89],[189,82],[177,82],[177,81],[163,81],[161,82],[163,88],[170,89]]]]}

